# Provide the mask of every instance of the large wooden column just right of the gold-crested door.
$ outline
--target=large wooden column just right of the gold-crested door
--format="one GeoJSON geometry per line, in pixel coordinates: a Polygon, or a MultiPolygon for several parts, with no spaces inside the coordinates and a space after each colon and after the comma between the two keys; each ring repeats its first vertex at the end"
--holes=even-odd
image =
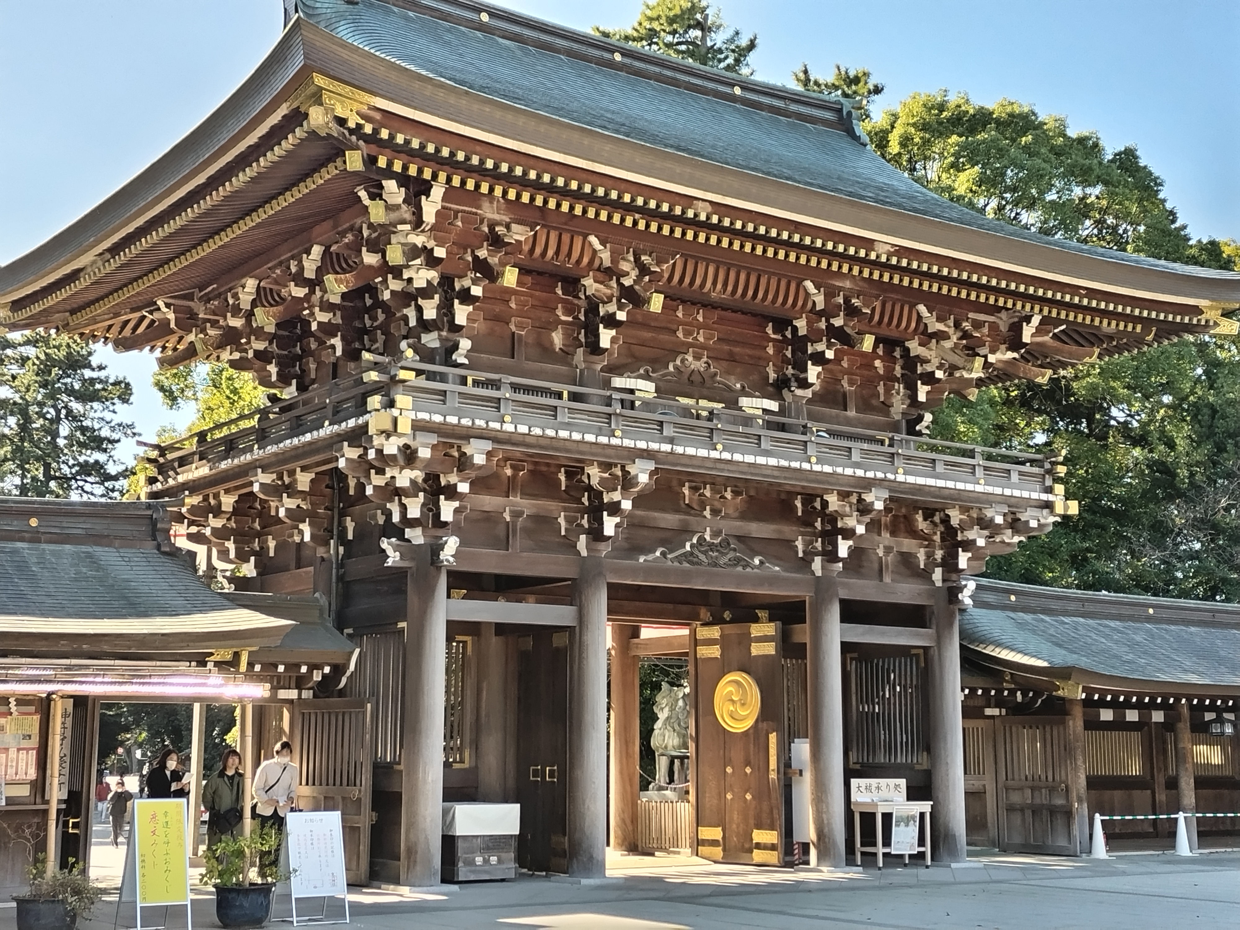
{"type": "Polygon", "coordinates": [[[806,618],[810,724],[810,864],[844,864],[844,713],[839,680],[839,582],[815,580],[806,618]]]}

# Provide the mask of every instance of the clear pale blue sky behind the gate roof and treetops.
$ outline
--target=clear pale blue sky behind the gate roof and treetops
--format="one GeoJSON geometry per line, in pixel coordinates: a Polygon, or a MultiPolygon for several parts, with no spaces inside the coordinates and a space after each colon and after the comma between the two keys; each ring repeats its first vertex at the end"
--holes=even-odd
{"type": "MultiPolygon", "coordinates": [[[[640,0],[506,0],[578,29],[621,26],[640,0]]],[[[280,0],[0,0],[0,263],[98,203],[193,128],[280,31],[280,0]]],[[[1194,236],[1240,238],[1240,0],[724,0],[758,32],[756,77],[802,61],[868,67],[878,107],[946,87],[1001,97],[1136,144],[1194,236]]],[[[165,410],[149,355],[100,350],[134,384],[145,438],[165,410]]],[[[125,450],[126,456],[130,450],[125,450]]]]}

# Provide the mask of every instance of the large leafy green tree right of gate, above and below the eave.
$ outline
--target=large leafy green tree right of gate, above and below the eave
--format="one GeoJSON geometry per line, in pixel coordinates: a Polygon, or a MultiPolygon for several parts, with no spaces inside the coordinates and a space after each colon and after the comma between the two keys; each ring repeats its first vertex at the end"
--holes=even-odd
{"type": "MultiPolygon", "coordinates": [[[[1037,232],[1234,269],[1234,241],[1193,241],[1133,146],[1109,151],[1012,100],[911,94],[866,126],[875,151],[936,193],[1037,232]]],[[[951,398],[932,434],[1066,453],[1081,515],[993,558],[987,574],[1240,600],[1240,342],[1200,337],[1080,366],[1048,384],[951,398]]]]}

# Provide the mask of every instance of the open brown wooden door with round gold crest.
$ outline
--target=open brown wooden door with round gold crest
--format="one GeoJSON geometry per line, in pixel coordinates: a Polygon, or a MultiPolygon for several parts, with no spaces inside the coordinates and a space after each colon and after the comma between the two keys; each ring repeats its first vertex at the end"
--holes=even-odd
{"type": "Polygon", "coordinates": [[[697,854],[782,864],[784,662],[779,624],[694,630],[697,854]]]}

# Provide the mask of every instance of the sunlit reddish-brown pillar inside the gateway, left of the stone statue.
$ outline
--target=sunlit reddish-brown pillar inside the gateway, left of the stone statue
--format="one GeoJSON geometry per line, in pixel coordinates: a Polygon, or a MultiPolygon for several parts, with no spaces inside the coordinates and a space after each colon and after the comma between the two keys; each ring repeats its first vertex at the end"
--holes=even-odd
{"type": "Polygon", "coordinates": [[[640,635],[637,624],[611,624],[611,848],[618,852],[640,851],[640,660],[629,655],[640,635]]]}

